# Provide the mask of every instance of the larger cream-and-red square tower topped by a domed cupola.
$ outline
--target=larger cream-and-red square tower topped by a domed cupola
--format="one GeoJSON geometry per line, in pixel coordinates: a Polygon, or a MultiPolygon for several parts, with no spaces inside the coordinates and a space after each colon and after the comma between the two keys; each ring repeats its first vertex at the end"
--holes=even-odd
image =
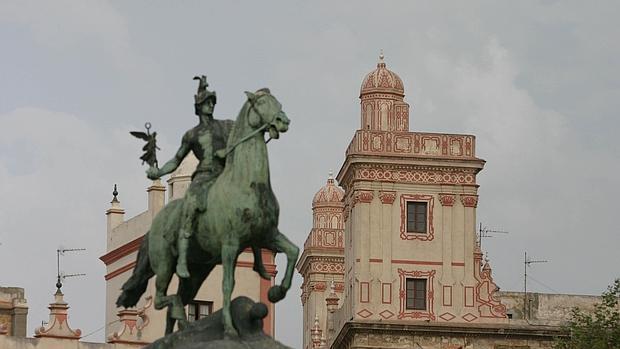
{"type": "Polygon", "coordinates": [[[383,55],[360,100],[360,129],[337,176],[345,189],[345,292],[336,326],[504,321],[475,234],[484,166],[475,137],[409,132],[402,80],[383,55]]]}

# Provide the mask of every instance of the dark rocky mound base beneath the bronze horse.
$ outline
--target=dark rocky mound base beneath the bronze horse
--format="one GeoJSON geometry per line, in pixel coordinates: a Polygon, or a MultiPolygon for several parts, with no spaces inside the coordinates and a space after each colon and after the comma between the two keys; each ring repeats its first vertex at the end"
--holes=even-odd
{"type": "Polygon", "coordinates": [[[233,324],[239,338],[224,339],[222,311],[190,323],[182,331],[158,339],[147,349],[291,349],[263,332],[267,308],[247,297],[237,297],[231,304],[233,324]]]}

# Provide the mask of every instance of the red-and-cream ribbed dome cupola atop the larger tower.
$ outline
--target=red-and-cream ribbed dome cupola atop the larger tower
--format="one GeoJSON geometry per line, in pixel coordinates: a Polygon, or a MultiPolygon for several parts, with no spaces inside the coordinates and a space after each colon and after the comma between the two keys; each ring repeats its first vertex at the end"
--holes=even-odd
{"type": "Polygon", "coordinates": [[[403,81],[386,68],[383,52],[377,68],[366,75],[360,88],[361,129],[409,131],[409,104],[403,81]]]}

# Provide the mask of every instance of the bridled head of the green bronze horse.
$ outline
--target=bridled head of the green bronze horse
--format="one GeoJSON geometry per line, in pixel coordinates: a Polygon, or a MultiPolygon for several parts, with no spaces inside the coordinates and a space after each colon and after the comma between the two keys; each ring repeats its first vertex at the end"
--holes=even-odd
{"type": "Polygon", "coordinates": [[[282,104],[271,94],[268,88],[255,93],[246,92],[248,103],[248,124],[252,129],[262,128],[269,131],[269,137],[277,139],[281,132],[288,130],[290,120],[282,111],[282,104]]]}

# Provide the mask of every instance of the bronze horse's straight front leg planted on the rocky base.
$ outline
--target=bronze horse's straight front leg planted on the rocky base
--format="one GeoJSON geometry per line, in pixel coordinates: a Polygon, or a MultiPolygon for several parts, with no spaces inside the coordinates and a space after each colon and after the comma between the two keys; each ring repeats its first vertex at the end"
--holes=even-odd
{"type": "Polygon", "coordinates": [[[222,320],[224,325],[224,337],[232,338],[238,337],[239,333],[233,326],[232,314],[230,311],[230,298],[232,291],[235,288],[235,262],[237,261],[237,254],[239,252],[239,242],[225,241],[222,244],[222,293],[224,296],[224,304],[222,307],[222,320]]]}

